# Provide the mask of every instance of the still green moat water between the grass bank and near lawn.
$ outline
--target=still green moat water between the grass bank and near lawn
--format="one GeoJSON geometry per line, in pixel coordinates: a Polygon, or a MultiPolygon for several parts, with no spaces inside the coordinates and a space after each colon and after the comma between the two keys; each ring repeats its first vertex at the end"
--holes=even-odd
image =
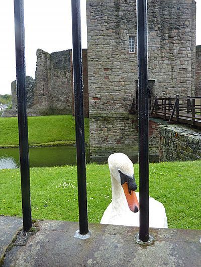
{"type": "MultiPolygon", "coordinates": [[[[52,167],[76,165],[76,147],[31,147],[29,149],[30,167],[52,167]]],[[[86,162],[89,162],[89,149],[86,147],[86,162]]],[[[0,149],[0,169],[20,167],[19,148],[0,149]]]]}

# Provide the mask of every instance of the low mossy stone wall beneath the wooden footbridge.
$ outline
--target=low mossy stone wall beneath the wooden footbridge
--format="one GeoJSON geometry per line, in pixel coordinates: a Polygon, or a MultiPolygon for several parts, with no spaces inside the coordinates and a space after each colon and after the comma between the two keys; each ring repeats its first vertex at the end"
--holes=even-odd
{"type": "Polygon", "coordinates": [[[160,161],[201,159],[201,134],[185,126],[160,126],[160,161]]]}

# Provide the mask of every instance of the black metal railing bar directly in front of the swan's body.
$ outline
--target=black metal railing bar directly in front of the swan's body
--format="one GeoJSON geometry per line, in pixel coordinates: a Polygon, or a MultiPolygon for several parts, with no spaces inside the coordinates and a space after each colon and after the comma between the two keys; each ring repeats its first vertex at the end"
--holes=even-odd
{"type": "Polygon", "coordinates": [[[149,240],[149,109],[147,0],[137,0],[140,231],[149,240]]]}

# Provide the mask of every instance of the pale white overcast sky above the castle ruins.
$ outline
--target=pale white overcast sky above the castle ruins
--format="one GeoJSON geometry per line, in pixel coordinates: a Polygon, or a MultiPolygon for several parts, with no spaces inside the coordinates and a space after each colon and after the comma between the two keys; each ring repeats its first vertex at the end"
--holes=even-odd
{"type": "MultiPolygon", "coordinates": [[[[87,48],[85,0],[81,2],[82,48],[87,48]]],[[[196,0],[196,45],[201,45],[201,0],[196,0]]],[[[36,50],[48,53],[72,47],[71,0],[24,0],[26,75],[35,77],[36,50]]],[[[11,93],[16,79],[13,0],[0,0],[0,94],[11,93]]]]}

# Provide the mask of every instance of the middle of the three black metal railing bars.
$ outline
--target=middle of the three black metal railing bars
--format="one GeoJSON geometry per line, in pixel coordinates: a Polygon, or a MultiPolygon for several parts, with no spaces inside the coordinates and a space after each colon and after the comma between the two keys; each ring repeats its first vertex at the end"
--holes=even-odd
{"type": "Polygon", "coordinates": [[[73,84],[75,103],[75,131],[77,148],[77,185],[79,202],[79,233],[88,233],[86,162],[84,144],[83,81],[81,51],[80,0],[71,0],[72,44],[73,44],[73,84]]]}

